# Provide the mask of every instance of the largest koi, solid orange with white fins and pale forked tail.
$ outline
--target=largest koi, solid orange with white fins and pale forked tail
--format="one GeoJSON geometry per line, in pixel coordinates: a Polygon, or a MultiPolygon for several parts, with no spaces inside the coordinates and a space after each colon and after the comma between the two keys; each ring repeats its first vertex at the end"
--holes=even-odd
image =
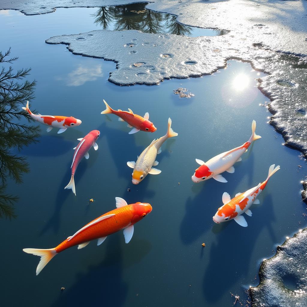
{"type": "Polygon", "coordinates": [[[116,209],[92,220],[58,246],[49,249],[24,248],[24,252],[41,257],[36,268],[36,275],[55,255],[69,247],[78,245],[78,249],[81,249],[95,239],[98,239],[97,245],[100,245],[108,235],[122,229],[124,230],[125,242],[129,243],[134,231],[133,225],[149,214],[152,207],[150,204],[140,202],[128,205],[126,200],[120,197],[115,197],[115,200],[116,209]]]}

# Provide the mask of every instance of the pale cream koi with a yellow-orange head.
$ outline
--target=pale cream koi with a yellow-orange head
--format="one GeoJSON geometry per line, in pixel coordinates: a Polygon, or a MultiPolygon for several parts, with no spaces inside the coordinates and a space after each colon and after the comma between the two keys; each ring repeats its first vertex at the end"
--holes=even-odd
{"type": "Polygon", "coordinates": [[[168,139],[177,136],[178,133],[174,132],[171,128],[172,120],[169,118],[167,132],[161,138],[154,139],[148,147],[138,156],[138,160],[128,161],[127,165],[133,169],[132,183],[137,185],[142,181],[147,174],[157,175],[161,173],[160,169],[155,169],[153,166],[159,164],[156,161],[157,154],[161,153],[162,144],[168,139]]]}

